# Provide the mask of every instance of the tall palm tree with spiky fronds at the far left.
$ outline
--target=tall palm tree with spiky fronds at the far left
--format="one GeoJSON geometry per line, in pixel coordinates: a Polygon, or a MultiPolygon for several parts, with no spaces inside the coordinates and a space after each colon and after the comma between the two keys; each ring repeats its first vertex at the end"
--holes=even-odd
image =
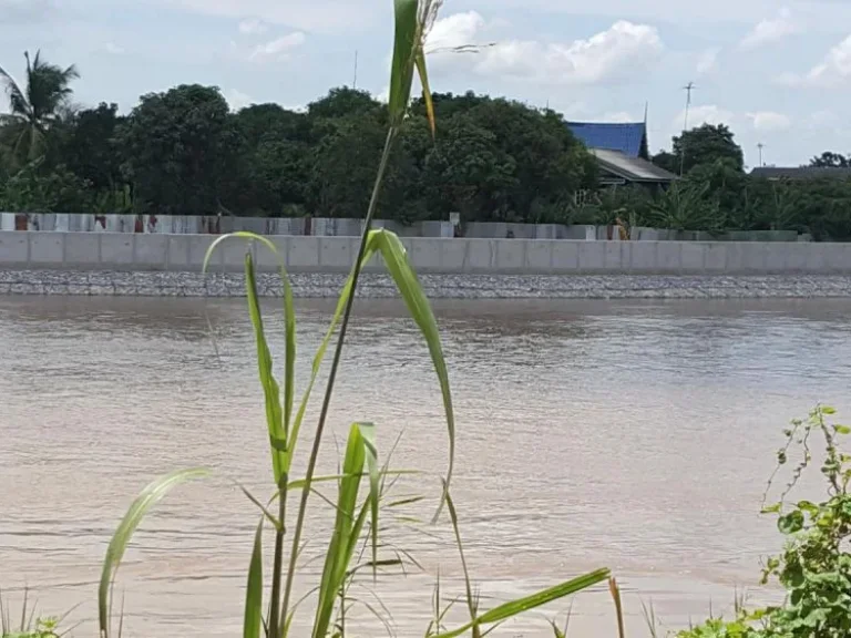
{"type": "Polygon", "coordinates": [[[19,162],[32,162],[44,153],[47,134],[69,104],[73,91],[70,84],[80,78],[72,64],[62,69],[42,60],[41,52],[27,60],[27,85],[21,89],[14,79],[0,66],[0,81],[6,85],[11,113],[0,115],[0,133],[11,154],[19,162]]]}

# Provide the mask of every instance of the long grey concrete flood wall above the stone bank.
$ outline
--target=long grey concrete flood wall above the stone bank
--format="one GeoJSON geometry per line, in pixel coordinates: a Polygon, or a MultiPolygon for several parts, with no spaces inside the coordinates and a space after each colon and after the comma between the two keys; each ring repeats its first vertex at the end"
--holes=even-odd
{"type": "MultiPolygon", "coordinates": [[[[2,269],[198,271],[216,237],[123,233],[0,231],[2,269]]],[[[273,237],[294,272],[346,272],[353,237],[273,237]]],[[[420,272],[571,274],[851,274],[851,244],[583,241],[547,239],[402,238],[420,272]]],[[[215,270],[242,270],[246,249],[260,270],[277,258],[259,245],[225,241],[215,270]]],[[[370,270],[381,270],[375,258],[370,270]]]]}

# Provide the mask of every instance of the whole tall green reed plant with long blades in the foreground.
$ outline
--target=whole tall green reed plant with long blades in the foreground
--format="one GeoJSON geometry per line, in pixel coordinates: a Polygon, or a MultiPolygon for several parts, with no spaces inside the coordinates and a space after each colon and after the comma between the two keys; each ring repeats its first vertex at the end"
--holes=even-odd
{"type": "MultiPolygon", "coordinates": [[[[450,521],[455,532],[459,556],[466,584],[470,620],[457,629],[443,630],[437,634],[438,638],[451,638],[464,634],[471,634],[475,637],[482,636],[486,632],[483,628],[493,627],[517,614],[591,587],[609,576],[607,569],[599,569],[580,578],[561,583],[532,596],[500,605],[484,613],[479,611],[478,601],[473,598],[471,577],[463,555],[458,515],[450,495],[455,454],[455,419],[449,372],[443,357],[438,325],[399,238],[387,230],[371,228],[385,174],[402,123],[408,114],[414,73],[419,74],[420,83],[423,88],[429,123],[432,133],[434,132],[434,112],[429,89],[424,42],[430,28],[437,19],[441,4],[442,0],[394,0],[396,34],[390,78],[387,140],[363,223],[363,234],[357,258],[338,299],[330,326],[314,356],[310,378],[297,409],[295,409],[296,317],[293,290],[286,268],[283,265],[283,260],[280,260],[285,321],[285,362],[281,399],[281,387],[273,373],[273,358],[266,340],[264,319],[260,312],[254,261],[250,254],[247,254],[245,258],[248,311],[257,344],[257,363],[264,392],[276,493],[269,505],[264,505],[258,498],[244,490],[252,502],[262,510],[247,575],[243,624],[244,638],[259,638],[262,632],[267,638],[284,638],[290,634],[290,627],[298,609],[298,603],[293,600],[294,579],[298,572],[298,558],[303,548],[301,537],[308,512],[308,500],[310,494],[315,492],[315,483],[336,481],[338,484],[338,495],[337,502],[334,503],[336,518],[330,538],[326,545],[321,576],[312,590],[316,596],[316,611],[311,629],[312,638],[326,638],[331,635],[345,636],[345,618],[340,618],[344,614],[337,611],[337,603],[340,603],[340,609],[345,610],[347,587],[360,566],[366,565],[370,567],[375,574],[377,567],[381,564],[378,557],[379,502],[381,500],[382,478],[387,477],[390,471],[387,466],[379,466],[375,425],[371,423],[353,423],[349,430],[340,474],[335,476],[316,476],[317,460],[325,434],[358,281],[365,265],[377,254],[381,255],[383,264],[391,275],[408,311],[426,340],[443,398],[449,438],[449,464],[443,477],[442,498],[433,521],[437,522],[443,506],[449,505],[450,521]],[[303,478],[294,481],[291,480],[290,471],[307,404],[321,363],[335,335],[337,335],[337,340],[308,456],[307,469],[303,478]],[[366,497],[360,500],[361,483],[365,478],[367,483],[366,497]],[[287,539],[287,508],[291,493],[297,496],[298,504],[295,513],[295,526],[289,539],[287,539]],[[267,605],[264,605],[263,533],[267,525],[274,531],[275,543],[271,559],[269,600],[267,605]],[[368,541],[371,547],[371,558],[367,564],[352,567],[357,554],[356,549],[361,539],[363,539],[365,534],[367,534],[365,529],[369,531],[368,541]],[[287,541],[289,543],[288,549],[285,547],[287,541]],[[265,618],[263,615],[264,608],[267,609],[265,618]]],[[[207,254],[207,260],[222,241],[232,238],[253,240],[276,253],[275,245],[265,237],[250,233],[235,233],[215,241],[207,254]]],[[[205,263],[205,270],[206,266],[205,263]]],[[[144,515],[168,491],[181,483],[203,477],[207,474],[208,471],[204,469],[185,470],[168,474],[151,483],[131,505],[110,543],[104,559],[99,589],[99,619],[103,638],[109,638],[111,632],[112,585],[124,550],[134,531],[144,515]]]]}

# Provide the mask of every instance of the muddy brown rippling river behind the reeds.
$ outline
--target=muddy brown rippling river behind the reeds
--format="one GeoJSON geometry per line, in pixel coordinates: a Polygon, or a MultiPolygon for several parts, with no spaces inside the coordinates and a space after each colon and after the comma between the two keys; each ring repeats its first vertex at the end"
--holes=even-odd
{"type": "MultiPolygon", "coordinates": [[[[279,306],[265,309],[280,361],[279,306]]],[[[299,391],[329,311],[298,303],[299,391]]],[[[630,636],[648,634],[643,604],[676,628],[710,606],[729,610],[736,588],[755,604],[776,597],[756,587],[760,556],[779,543],[760,500],[783,424],[819,401],[851,409],[850,300],[452,301],[435,311],[458,412],[453,493],[482,608],[601,566],[624,588],[630,636]]],[[[204,465],[217,477],[175,492],[135,537],[116,585],[124,634],[238,635],[257,510],[228,480],[271,493],[244,302],[0,298],[0,353],[4,598],[20,603],[29,586],[44,613],[80,605],[68,622],[94,635],[100,562],[134,494],[157,474],[204,465]]],[[[335,472],[349,423],[373,421],[383,453],[401,435],[394,467],[426,472],[394,491],[428,496],[407,510],[428,519],[447,466],[441,410],[403,309],[359,300],[320,472],[335,472]]],[[[306,558],[328,535],[328,506],[311,505],[306,558]]],[[[438,570],[444,593],[462,593],[445,518],[430,527],[388,514],[382,538],[424,573],[367,577],[357,589],[373,608],[381,598],[399,636],[423,634],[438,570]]],[[[306,567],[299,590],[319,569],[306,567]]],[[[552,636],[545,618],[568,608],[494,635],[552,636]]],[[[362,608],[353,622],[352,635],[383,632],[362,608]]],[[[571,635],[616,635],[605,588],[577,597],[571,635]]]]}

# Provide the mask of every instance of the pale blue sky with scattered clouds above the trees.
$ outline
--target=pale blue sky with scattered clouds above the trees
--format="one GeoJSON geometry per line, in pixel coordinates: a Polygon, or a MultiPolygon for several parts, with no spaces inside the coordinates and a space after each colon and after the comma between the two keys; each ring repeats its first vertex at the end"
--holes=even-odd
{"type": "MultiPolygon", "coordinates": [[[[0,66],[76,64],[81,106],[216,85],[239,109],[297,109],[332,86],[387,94],[392,0],[0,0],[0,66]]],[[[432,90],[642,121],[650,151],[728,124],[748,166],[851,152],[851,0],[445,0],[432,90]],[[452,51],[473,45],[472,52],[452,51]]]]}

